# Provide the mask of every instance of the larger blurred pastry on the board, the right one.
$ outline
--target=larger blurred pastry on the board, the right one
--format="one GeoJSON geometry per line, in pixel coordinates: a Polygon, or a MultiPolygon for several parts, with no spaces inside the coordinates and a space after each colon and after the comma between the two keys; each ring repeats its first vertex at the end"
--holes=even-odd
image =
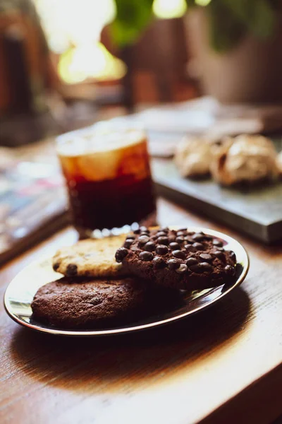
{"type": "Polygon", "coordinates": [[[228,138],[214,149],[210,170],[214,179],[224,185],[275,179],[278,168],[274,145],[263,136],[228,138]]]}

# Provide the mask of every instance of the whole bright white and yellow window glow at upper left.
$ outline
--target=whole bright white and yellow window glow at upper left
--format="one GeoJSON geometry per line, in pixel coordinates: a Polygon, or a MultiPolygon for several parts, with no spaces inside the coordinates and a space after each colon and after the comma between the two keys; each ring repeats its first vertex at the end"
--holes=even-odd
{"type": "MultiPolygon", "coordinates": [[[[0,0],[1,1],[1,0],[0,0]]],[[[65,83],[94,78],[120,79],[126,66],[99,42],[102,28],[116,15],[114,0],[33,0],[51,50],[60,55],[65,83]]]]}

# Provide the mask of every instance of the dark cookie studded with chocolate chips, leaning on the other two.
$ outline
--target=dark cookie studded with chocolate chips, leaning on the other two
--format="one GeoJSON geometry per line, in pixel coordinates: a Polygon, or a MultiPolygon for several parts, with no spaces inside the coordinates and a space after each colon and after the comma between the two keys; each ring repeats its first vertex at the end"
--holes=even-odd
{"type": "Polygon", "coordinates": [[[235,276],[235,253],[204,232],[140,228],[116,251],[116,261],[129,273],[166,287],[202,290],[235,276]]]}

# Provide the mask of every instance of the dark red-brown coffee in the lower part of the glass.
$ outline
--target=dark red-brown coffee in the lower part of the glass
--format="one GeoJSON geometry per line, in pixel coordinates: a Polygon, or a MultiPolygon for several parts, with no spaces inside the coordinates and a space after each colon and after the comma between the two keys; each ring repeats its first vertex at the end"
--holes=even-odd
{"type": "Polygon", "coordinates": [[[78,230],[121,228],[140,223],[156,210],[150,176],[120,175],[115,179],[68,183],[73,222],[78,230]]]}

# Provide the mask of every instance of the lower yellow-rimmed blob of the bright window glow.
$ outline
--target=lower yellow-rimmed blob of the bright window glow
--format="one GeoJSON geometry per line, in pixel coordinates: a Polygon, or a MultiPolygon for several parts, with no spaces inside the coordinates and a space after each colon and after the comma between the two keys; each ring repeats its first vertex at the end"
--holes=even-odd
{"type": "Polygon", "coordinates": [[[87,78],[116,80],[126,72],[123,61],[114,57],[101,42],[69,49],[61,55],[58,69],[61,79],[68,84],[87,78]]]}

